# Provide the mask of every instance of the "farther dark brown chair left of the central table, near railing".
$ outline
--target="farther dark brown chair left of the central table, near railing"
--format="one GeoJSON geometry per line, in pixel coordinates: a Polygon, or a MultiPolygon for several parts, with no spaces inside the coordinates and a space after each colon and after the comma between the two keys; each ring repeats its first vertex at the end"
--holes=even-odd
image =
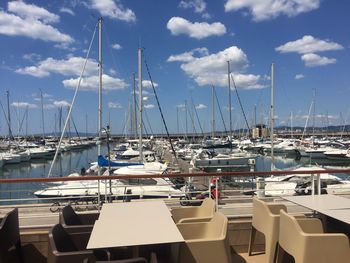
{"type": "Polygon", "coordinates": [[[59,222],[65,228],[77,229],[79,231],[92,230],[95,221],[98,219],[99,213],[77,214],[72,206],[67,205],[63,207],[60,213],[59,222]]]}

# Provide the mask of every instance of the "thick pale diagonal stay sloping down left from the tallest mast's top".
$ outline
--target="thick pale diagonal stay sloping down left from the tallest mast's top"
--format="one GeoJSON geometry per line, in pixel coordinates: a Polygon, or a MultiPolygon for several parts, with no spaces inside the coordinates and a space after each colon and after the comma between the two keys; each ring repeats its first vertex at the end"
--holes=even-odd
{"type": "Polygon", "coordinates": [[[63,126],[63,130],[62,130],[62,133],[61,133],[61,137],[60,137],[60,140],[58,142],[58,146],[57,146],[57,149],[56,149],[56,152],[55,152],[55,156],[54,156],[54,158],[53,158],[53,160],[51,162],[49,173],[48,173],[47,177],[51,176],[53,165],[55,164],[55,161],[56,161],[57,156],[58,156],[58,152],[59,152],[59,150],[61,148],[63,136],[64,136],[64,133],[66,131],[66,128],[67,128],[70,116],[72,114],[72,109],[73,109],[73,106],[74,106],[75,99],[76,99],[76,97],[78,95],[78,90],[80,88],[80,84],[81,84],[81,81],[83,79],[83,75],[84,75],[84,72],[85,72],[86,64],[87,64],[87,61],[88,61],[88,58],[89,58],[89,55],[90,55],[92,43],[94,42],[94,39],[95,39],[95,34],[96,34],[96,31],[97,31],[97,28],[98,28],[98,23],[96,23],[95,30],[94,30],[94,33],[92,35],[91,41],[90,41],[89,49],[88,49],[88,52],[86,53],[85,62],[84,62],[83,68],[82,68],[80,76],[79,76],[79,81],[78,81],[77,86],[76,86],[75,91],[74,91],[74,96],[73,96],[73,99],[72,99],[72,103],[71,103],[71,105],[69,107],[68,115],[67,115],[66,121],[64,122],[64,126],[63,126]]]}

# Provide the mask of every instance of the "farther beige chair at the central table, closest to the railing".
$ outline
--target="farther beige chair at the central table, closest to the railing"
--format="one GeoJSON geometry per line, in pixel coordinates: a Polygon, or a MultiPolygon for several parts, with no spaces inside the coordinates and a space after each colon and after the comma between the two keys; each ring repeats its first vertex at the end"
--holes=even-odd
{"type": "Polygon", "coordinates": [[[211,198],[203,200],[200,206],[180,207],[171,209],[175,223],[206,222],[215,212],[215,201],[211,198]]]}

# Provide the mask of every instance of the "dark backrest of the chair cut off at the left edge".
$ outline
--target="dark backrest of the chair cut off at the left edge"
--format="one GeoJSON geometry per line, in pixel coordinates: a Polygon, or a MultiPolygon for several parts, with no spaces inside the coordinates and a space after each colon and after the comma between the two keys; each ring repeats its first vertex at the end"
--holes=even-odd
{"type": "Polygon", "coordinates": [[[14,208],[0,223],[0,251],[7,251],[19,240],[18,209],[14,208]]]}

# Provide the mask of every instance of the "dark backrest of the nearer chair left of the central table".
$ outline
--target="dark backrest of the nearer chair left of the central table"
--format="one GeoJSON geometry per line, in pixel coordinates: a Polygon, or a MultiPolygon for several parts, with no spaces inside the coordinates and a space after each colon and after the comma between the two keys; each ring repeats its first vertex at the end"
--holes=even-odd
{"type": "Polygon", "coordinates": [[[72,252],[78,250],[61,224],[57,224],[51,228],[49,231],[49,242],[52,250],[58,252],[72,252]]]}

